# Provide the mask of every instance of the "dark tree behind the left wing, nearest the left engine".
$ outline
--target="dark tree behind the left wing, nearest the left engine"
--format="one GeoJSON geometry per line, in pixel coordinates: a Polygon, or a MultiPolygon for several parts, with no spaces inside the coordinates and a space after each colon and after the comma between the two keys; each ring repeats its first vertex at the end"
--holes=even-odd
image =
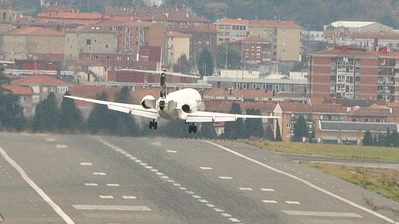
{"type": "MultiPolygon", "coordinates": [[[[114,96],[117,103],[130,103],[131,95],[129,87],[122,87],[114,96]]],[[[110,135],[134,136],[139,134],[139,126],[132,115],[119,111],[110,111],[109,126],[110,135]]]]}

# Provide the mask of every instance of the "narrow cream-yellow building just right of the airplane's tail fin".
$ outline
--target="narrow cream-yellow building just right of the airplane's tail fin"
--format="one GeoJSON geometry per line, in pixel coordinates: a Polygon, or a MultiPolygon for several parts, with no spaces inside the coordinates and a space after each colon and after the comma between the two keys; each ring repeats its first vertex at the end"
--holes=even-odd
{"type": "Polygon", "coordinates": [[[167,57],[166,63],[173,65],[178,62],[181,55],[190,58],[190,36],[176,31],[167,32],[167,57]]]}

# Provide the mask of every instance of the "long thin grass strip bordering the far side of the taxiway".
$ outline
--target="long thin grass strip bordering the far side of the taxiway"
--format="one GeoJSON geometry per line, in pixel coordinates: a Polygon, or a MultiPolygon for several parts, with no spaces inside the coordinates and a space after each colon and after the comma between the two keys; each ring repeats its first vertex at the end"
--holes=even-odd
{"type": "Polygon", "coordinates": [[[300,142],[248,140],[246,143],[266,150],[305,155],[325,155],[350,159],[399,162],[399,148],[377,146],[347,146],[341,144],[308,144],[300,142]]]}

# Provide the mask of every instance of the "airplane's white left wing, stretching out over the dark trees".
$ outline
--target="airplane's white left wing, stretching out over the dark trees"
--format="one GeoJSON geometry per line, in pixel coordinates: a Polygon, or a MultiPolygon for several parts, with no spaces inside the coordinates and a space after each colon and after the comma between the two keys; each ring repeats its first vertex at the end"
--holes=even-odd
{"type": "Polygon", "coordinates": [[[90,103],[99,103],[103,105],[107,105],[108,109],[110,110],[116,110],[119,112],[124,112],[126,114],[133,114],[141,117],[147,117],[151,119],[159,119],[160,114],[158,114],[158,111],[155,109],[145,109],[142,107],[142,105],[135,105],[135,104],[128,104],[128,103],[114,103],[110,101],[99,101],[99,100],[94,100],[91,98],[81,98],[77,96],[64,96],[67,98],[73,98],[78,101],[86,101],[90,103]]]}

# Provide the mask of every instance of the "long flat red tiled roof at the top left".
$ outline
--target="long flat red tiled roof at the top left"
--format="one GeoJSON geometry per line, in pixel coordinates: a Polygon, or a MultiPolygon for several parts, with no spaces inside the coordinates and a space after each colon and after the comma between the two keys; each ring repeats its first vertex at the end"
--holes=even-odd
{"type": "Polygon", "coordinates": [[[37,18],[47,19],[110,19],[108,15],[99,12],[41,12],[37,18]]]}

